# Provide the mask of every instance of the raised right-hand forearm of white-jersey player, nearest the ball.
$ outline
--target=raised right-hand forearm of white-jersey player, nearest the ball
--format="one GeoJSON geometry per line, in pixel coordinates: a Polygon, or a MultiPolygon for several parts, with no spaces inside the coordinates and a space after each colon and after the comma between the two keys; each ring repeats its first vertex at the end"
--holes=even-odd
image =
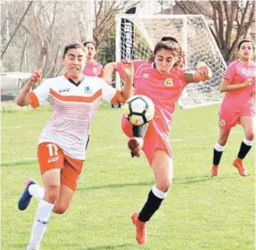
{"type": "Polygon", "coordinates": [[[121,92],[119,103],[125,103],[132,94],[132,85],[133,85],[133,75],[134,67],[132,60],[122,60],[123,62],[123,71],[125,73],[125,85],[121,92]]]}

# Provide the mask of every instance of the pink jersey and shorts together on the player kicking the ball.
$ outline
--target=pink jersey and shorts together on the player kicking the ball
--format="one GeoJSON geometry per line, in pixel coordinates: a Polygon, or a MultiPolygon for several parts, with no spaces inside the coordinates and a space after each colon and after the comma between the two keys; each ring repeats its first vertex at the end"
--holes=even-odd
{"type": "MultiPolygon", "coordinates": [[[[173,120],[175,104],[187,84],[184,79],[185,70],[174,67],[171,73],[161,74],[150,61],[134,60],[133,64],[135,94],[150,97],[155,105],[154,118],[150,121],[142,148],[151,165],[156,149],[165,151],[172,158],[169,125],[173,120]]],[[[117,63],[117,71],[124,78],[121,62],[117,63]]],[[[132,136],[132,125],[125,118],[122,120],[122,128],[127,136],[132,136]]]]}

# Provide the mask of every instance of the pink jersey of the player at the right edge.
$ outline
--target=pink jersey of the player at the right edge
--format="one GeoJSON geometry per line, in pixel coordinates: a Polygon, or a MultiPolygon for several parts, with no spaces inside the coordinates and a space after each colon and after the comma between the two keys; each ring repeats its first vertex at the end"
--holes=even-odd
{"type": "Polygon", "coordinates": [[[228,66],[228,69],[224,74],[224,78],[229,81],[229,84],[239,84],[246,81],[248,78],[252,78],[253,82],[250,86],[245,88],[226,92],[221,104],[222,109],[239,111],[244,107],[253,105],[253,96],[255,93],[254,62],[252,62],[251,65],[245,65],[241,60],[233,61],[228,66]]]}

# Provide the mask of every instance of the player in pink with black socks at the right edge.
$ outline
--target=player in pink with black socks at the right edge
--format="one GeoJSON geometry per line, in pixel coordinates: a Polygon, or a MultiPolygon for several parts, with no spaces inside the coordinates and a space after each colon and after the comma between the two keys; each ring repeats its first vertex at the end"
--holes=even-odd
{"type": "Polygon", "coordinates": [[[254,95],[255,95],[255,62],[252,59],[254,46],[248,39],[239,42],[239,60],[228,66],[220,92],[226,92],[219,111],[219,136],[214,147],[211,176],[218,175],[219,162],[228,141],[231,128],[242,125],[245,137],[241,142],[238,157],[233,166],[239,175],[246,176],[247,170],[242,160],[247,156],[254,139],[254,95]]]}

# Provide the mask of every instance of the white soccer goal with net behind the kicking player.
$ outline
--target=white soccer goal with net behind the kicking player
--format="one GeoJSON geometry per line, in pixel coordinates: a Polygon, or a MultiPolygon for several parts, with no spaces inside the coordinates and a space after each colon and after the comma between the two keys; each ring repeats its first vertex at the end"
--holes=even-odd
{"type": "MultiPolygon", "coordinates": [[[[227,68],[217,48],[206,19],[201,15],[117,15],[116,60],[149,60],[152,49],[162,37],[177,38],[186,54],[186,67],[195,68],[197,61],[205,61],[213,71],[207,82],[188,84],[179,100],[182,108],[219,103],[219,85],[227,68]]],[[[117,74],[116,86],[122,82],[117,74]]]]}

